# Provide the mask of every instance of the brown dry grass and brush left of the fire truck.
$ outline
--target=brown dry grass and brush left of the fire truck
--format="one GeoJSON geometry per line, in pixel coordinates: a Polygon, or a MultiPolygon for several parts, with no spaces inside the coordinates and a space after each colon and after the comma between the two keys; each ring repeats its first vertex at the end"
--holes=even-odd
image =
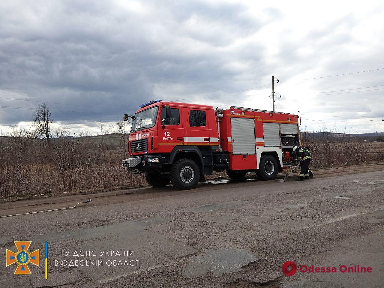
{"type": "Polygon", "coordinates": [[[0,151],[0,197],[145,183],[143,175],[121,167],[125,149],[111,149],[108,141],[87,136],[69,137],[65,129],[56,136],[50,146],[43,146],[29,131],[12,132],[0,151]]]}

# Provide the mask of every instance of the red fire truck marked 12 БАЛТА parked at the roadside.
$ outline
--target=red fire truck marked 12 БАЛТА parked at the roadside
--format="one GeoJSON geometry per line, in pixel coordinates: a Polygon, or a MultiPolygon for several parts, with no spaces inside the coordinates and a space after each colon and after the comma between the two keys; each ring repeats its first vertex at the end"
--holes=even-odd
{"type": "Polygon", "coordinates": [[[296,166],[292,150],[300,143],[300,113],[153,100],[131,118],[131,158],[122,166],[144,173],[153,187],[172,182],[192,189],[205,175],[224,170],[233,180],[247,172],[272,180],[278,171],[296,166]]]}

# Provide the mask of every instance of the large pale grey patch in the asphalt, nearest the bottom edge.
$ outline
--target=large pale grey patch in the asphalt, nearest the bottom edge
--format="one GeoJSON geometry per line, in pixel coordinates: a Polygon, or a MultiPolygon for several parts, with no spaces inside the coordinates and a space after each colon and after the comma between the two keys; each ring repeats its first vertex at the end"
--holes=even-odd
{"type": "Polygon", "coordinates": [[[245,249],[223,248],[207,250],[204,255],[194,256],[187,260],[184,268],[185,278],[201,277],[208,273],[220,275],[242,270],[250,262],[257,261],[252,253],[245,249]]]}

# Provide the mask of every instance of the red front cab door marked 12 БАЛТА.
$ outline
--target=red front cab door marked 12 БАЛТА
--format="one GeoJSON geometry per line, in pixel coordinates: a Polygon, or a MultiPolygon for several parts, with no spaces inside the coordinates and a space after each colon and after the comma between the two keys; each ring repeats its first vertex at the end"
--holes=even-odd
{"type": "Polygon", "coordinates": [[[184,144],[184,128],[180,108],[171,106],[170,111],[170,123],[164,125],[164,129],[162,129],[161,122],[166,118],[166,108],[161,107],[159,128],[157,130],[159,137],[159,152],[170,153],[174,146],[184,144]]]}

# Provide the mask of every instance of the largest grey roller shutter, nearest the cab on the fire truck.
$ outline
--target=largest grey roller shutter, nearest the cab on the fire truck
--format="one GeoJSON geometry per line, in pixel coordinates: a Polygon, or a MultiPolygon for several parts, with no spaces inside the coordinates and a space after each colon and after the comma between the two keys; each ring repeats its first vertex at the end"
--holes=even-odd
{"type": "Polygon", "coordinates": [[[255,119],[231,118],[232,153],[256,154],[255,119]]]}

